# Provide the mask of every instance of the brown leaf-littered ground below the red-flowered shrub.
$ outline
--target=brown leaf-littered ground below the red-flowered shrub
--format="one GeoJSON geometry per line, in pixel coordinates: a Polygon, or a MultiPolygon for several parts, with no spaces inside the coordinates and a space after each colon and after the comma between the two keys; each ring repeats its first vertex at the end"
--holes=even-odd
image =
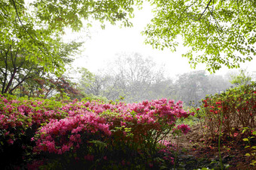
{"type": "MultiPolygon", "coordinates": [[[[202,169],[203,167],[220,169],[218,139],[212,140],[204,136],[200,123],[191,125],[190,129],[187,135],[172,139],[175,144],[178,142],[179,167],[181,169],[202,169]]],[[[253,157],[245,156],[249,148],[245,149],[246,142],[242,140],[243,138],[245,136],[238,135],[234,139],[225,137],[221,140],[221,160],[226,169],[256,169],[256,166],[250,165],[253,157]]]]}

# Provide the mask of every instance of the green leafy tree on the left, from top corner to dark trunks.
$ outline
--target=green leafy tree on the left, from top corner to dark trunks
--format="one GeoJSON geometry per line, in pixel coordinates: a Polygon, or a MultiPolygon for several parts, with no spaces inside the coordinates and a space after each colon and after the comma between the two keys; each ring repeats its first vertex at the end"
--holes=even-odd
{"type": "Polygon", "coordinates": [[[56,76],[72,62],[81,43],[63,43],[60,34],[39,23],[25,1],[0,1],[0,87],[1,94],[17,88],[32,91],[35,79],[46,73],[56,76]]]}

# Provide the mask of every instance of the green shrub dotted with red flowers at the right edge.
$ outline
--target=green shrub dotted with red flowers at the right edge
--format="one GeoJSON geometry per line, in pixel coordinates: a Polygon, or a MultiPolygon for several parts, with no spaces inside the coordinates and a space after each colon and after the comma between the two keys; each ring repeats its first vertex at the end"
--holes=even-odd
{"type": "Polygon", "coordinates": [[[256,124],[256,83],[230,88],[215,96],[206,97],[197,112],[203,112],[208,133],[214,137],[220,128],[226,136],[236,136],[244,127],[253,129],[256,124]]]}

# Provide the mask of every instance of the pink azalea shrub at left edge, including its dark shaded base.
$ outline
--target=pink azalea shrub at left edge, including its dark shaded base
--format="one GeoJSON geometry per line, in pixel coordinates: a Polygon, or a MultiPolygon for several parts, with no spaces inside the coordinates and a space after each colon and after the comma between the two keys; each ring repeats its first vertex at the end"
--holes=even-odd
{"type": "Polygon", "coordinates": [[[0,166],[23,163],[30,157],[30,139],[38,127],[66,117],[67,113],[59,109],[61,106],[62,103],[53,100],[0,96],[0,166]]]}

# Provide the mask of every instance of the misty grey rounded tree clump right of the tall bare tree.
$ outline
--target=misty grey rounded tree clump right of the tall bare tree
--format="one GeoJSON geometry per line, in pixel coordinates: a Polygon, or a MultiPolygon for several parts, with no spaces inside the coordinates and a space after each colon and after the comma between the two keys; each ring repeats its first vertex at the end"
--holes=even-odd
{"type": "Polygon", "coordinates": [[[207,75],[206,71],[194,71],[178,76],[178,79],[170,88],[170,94],[175,100],[184,101],[189,106],[190,102],[198,105],[207,94],[216,94],[230,88],[229,79],[223,76],[207,75]]]}

